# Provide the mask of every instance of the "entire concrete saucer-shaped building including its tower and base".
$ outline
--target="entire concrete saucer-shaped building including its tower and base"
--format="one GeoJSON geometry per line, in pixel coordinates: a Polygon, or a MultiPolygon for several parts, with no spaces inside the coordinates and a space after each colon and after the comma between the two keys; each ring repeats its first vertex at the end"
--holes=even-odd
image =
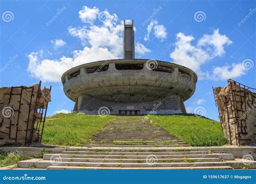
{"type": "Polygon", "coordinates": [[[174,63],[134,59],[133,22],[124,21],[124,59],[85,63],[62,75],[64,93],[85,114],[176,114],[196,89],[197,75],[174,63]]]}

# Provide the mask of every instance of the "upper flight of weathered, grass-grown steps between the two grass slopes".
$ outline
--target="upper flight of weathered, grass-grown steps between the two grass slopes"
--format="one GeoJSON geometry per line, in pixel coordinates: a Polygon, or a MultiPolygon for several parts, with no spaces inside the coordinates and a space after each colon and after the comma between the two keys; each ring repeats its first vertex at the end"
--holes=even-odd
{"type": "Polygon", "coordinates": [[[92,137],[84,146],[181,147],[189,146],[142,116],[119,117],[92,137]]]}

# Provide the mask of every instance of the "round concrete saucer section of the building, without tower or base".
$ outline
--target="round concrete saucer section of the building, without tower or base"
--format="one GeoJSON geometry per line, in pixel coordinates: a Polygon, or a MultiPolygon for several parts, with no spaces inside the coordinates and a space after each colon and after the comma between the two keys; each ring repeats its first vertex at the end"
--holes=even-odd
{"type": "Polygon", "coordinates": [[[148,59],[90,62],[62,75],[64,92],[72,101],[81,95],[90,95],[105,101],[147,102],[171,94],[178,94],[185,101],[193,95],[196,82],[197,75],[189,68],[148,59]],[[150,63],[153,68],[149,67],[150,63]],[[92,72],[95,68],[100,69],[92,72]]]}

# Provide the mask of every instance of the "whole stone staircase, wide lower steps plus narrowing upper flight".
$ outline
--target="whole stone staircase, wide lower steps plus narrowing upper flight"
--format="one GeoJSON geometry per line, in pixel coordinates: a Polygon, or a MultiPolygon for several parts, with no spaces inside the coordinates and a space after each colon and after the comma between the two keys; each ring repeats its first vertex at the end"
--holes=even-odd
{"type": "Polygon", "coordinates": [[[199,151],[143,117],[120,117],[90,143],[43,159],[19,161],[19,168],[43,169],[233,169],[233,154],[199,151]]]}

